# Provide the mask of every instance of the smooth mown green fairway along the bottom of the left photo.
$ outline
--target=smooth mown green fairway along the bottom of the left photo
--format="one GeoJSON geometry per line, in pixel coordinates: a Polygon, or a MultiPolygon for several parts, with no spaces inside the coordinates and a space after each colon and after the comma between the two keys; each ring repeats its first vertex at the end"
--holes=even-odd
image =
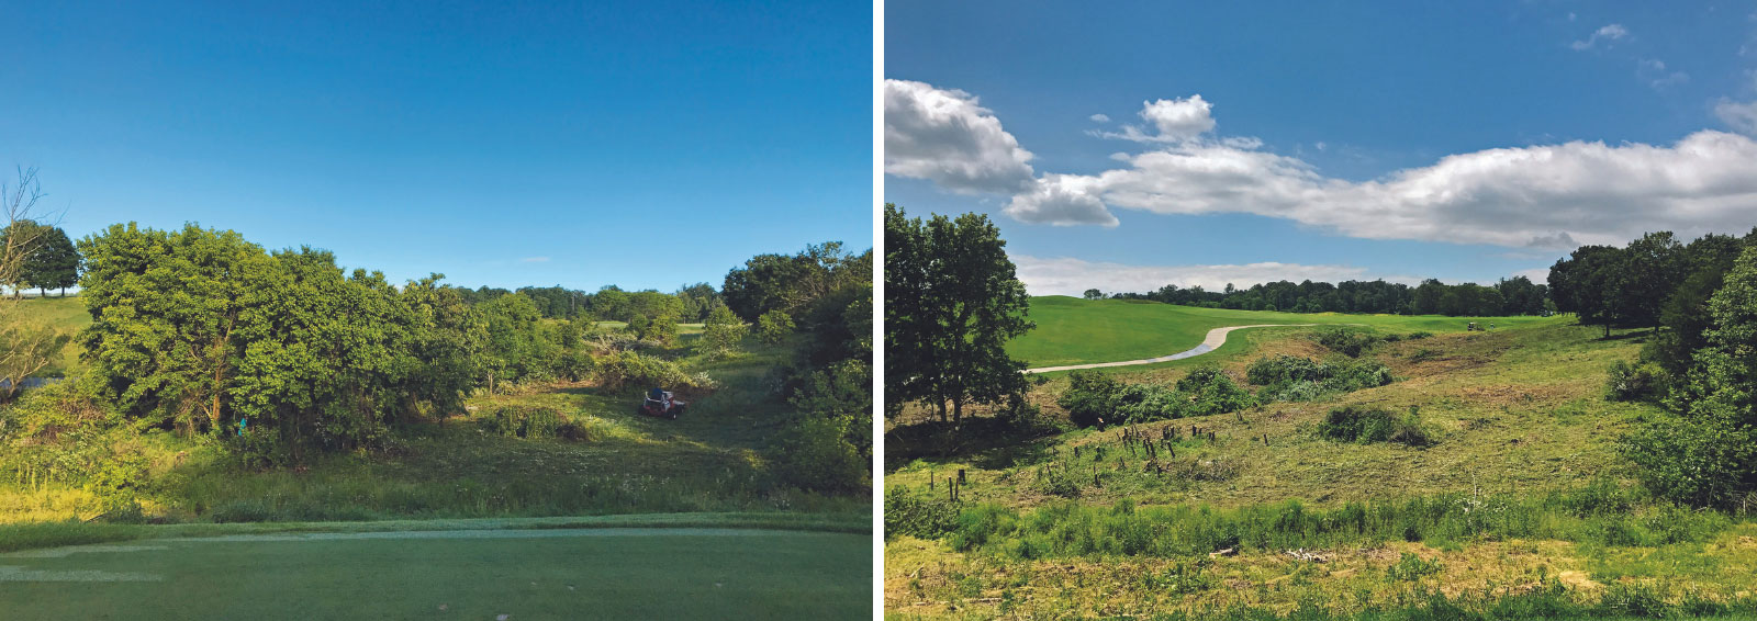
{"type": "Polygon", "coordinates": [[[146,539],[0,554],[5,619],[863,619],[871,537],[731,528],[146,539]]]}

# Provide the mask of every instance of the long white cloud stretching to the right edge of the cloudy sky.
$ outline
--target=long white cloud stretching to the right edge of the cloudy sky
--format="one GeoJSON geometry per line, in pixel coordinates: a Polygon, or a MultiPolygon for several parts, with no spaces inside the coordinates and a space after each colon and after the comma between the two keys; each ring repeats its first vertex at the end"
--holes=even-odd
{"type": "Polygon", "coordinates": [[[1713,130],[1673,146],[1486,149],[1367,182],[1325,177],[1293,156],[1182,144],[1088,179],[1061,186],[1154,214],[1246,212],[1349,237],[1509,247],[1745,232],[1757,218],[1757,142],[1713,130]]]}

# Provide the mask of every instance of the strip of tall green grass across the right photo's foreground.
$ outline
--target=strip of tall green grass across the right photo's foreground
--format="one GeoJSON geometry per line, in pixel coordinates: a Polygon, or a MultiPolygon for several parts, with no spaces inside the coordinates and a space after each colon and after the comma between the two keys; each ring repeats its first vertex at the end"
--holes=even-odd
{"type": "Polygon", "coordinates": [[[1198,556],[1221,549],[1283,551],[1370,546],[1388,540],[1430,546],[1499,539],[1557,539],[1588,546],[1699,542],[1731,519],[1657,503],[1636,489],[1597,484],[1546,496],[1414,496],[1402,502],[1312,509],[1297,500],[1214,509],[1193,505],[1110,507],[1058,502],[1019,512],[965,507],[947,542],[1014,558],[1198,556]]]}

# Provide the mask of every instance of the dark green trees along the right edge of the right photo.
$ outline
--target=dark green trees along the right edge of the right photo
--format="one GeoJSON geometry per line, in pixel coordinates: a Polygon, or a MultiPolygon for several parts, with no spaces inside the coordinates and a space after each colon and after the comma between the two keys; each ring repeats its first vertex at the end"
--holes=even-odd
{"type": "Polygon", "coordinates": [[[1550,282],[1564,310],[1608,339],[1652,328],[1636,363],[1615,363],[1606,382],[1608,398],[1667,412],[1623,442],[1643,482],[1690,505],[1757,509],[1757,230],[1583,246],[1550,282]]]}

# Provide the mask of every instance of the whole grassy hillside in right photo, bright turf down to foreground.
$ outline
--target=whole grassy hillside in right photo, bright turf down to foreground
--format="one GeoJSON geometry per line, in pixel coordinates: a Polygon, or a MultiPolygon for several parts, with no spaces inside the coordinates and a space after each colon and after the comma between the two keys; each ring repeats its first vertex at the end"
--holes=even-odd
{"type": "MultiPolygon", "coordinates": [[[[1038,330],[1014,346],[1033,363],[1175,351],[1221,325],[1365,323],[1381,335],[1434,335],[1362,354],[1386,365],[1392,384],[1312,402],[1063,426],[1028,440],[970,440],[949,454],[922,442],[935,423],[900,423],[884,479],[891,617],[1353,614],[1411,605],[1421,593],[1581,616],[1613,614],[1604,603],[1613,596],[1650,598],[1660,610],[1687,595],[1753,602],[1757,525],[1655,503],[1618,454],[1620,437],[1657,409],[1604,400],[1604,370],[1634,360],[1646,332],[1602,339],[1573,319],[1537,318],[1485,318],[1476,321],[1497,330],[1464,332],[1471,319],[1072,298],[1035,298],[1031,314],[1038,330]],[[1151,335],[1137,335],[1142,326],[1151,335]],[[1325,439],[1320,428],[1341,407],[1416,412],[1432,444],[1325,439]],[[949,502],[959,472],[965,484],[949,502]],[[958,518],[931,526],[945,510],[958,518]]],[[[1214,354],[1105,374],[1168,386],[1218,365],[1249,386],[1246,367],[1265,356],[1337,360],[1316,342],[1320,330],[1242,332],[1214,354]]],[[[1030,400],[1066,425],[1056,398],[1068,386],[1056,374],[1030,400]]]]}

